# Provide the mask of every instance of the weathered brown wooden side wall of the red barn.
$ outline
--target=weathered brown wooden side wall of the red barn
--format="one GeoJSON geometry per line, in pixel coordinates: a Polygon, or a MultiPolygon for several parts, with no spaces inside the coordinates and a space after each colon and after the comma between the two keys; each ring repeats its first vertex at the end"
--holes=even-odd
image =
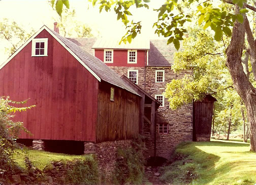
{"type": "Polygon", "coordinates": [[[139,134],[140,98],[106,82],[99,85],[97,142],[135,138],[139,134]],[[114,101],[110,88],[114,87],[114,101]]]}

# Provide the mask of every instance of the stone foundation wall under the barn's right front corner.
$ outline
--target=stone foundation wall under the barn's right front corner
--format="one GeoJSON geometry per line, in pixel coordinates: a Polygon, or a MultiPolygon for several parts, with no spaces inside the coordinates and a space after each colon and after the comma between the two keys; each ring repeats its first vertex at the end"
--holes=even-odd
{"type": "Polygon", "coordinates": [[[106,141],[100,143],[84,142],[84,151],[95,154],[98,159],[100,174],[109,182],[115,169],[118,147],[125,149],[131,146],[132,140],[106,141]]]}

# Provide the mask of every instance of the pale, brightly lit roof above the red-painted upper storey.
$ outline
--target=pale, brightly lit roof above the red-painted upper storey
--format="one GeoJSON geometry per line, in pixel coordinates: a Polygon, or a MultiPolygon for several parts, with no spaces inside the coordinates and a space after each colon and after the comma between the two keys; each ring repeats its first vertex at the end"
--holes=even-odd
{"type": "Polygon", "coordinates": [[[124,44],[118,39],[97,39],[92,46],[93,49],[123,49],[123,50],[149,50],[149,41],[133,40],[132,43],[126,42],[124,44]]]}

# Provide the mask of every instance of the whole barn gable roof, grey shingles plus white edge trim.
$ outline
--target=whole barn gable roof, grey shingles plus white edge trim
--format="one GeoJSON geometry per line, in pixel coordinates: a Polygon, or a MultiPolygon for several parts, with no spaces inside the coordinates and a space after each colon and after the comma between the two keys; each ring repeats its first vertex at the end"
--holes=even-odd
{"type": "MultiPolygon", "coordinates": [[[[103,63],[97,57],[90,55],[88,52],[81,49],[75,43],[69,41],[63,36],[59,35],[57,32],[49,29],[44,25],[37,33],[35,33],[31,38],[23,44],[6,62],[4,62],[0,69],[3,68],[14,56],[16,56],[31,40],[33,40],[42,30],[48,31],[56,41],[59,42],[68,52],[70,52],[96,79],[100,82],[101,80],[106,81],[112,85],[125,89],[138,95],[131,87],[125,84],[122,79],[105,63],[103,63]]],[[[139,96],[139,95],[138,95],[139,96]]]]}

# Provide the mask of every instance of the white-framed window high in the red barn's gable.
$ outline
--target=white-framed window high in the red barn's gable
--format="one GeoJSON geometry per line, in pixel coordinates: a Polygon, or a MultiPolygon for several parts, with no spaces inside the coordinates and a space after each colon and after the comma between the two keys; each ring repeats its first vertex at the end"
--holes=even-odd
{"type": "Polygon", "coordinates": [[[31,56],[47,56],[48,38],[32,40],[31,56]]]}

